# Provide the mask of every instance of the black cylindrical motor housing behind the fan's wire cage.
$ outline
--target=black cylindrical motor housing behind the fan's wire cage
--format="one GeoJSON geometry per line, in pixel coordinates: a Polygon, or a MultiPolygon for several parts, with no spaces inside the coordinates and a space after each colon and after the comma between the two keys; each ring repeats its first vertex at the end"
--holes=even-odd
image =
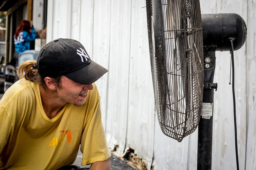
{"type": "Polygon", "coordinates": [[[238,14],[202,14],[202,27],[206,51],[230,51],[230,39],[234,50],[239,50],[245,43],[247,28],[238,14]]]}

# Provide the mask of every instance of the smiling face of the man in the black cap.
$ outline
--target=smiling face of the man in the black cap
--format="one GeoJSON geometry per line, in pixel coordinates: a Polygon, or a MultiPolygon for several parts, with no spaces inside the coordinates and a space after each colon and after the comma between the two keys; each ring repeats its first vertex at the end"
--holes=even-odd
{"type": "Polygon", "coordinates": [[[60,87],[57,87],[58,97],[75,106],[82,106],[86,102],[89,90],[93,90],[93,84],[82,85],[65,76],[61,76],[60,87]]]}

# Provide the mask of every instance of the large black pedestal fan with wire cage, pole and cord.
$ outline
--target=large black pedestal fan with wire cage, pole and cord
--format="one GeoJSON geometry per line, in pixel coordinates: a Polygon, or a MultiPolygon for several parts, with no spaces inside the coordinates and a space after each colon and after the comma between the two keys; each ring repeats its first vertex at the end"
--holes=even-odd
{"type": "MultiPolygon", "coordinates": [[[[146,0],[151,71],[162,132],[181,142],[198,127],[197,169],[210,170],[215,51],[233,51],[246,40],[238,14],[202,14],[199,0],[146,0]]],[[[237,135],[234,100],[237,169],[237,135]]]]}

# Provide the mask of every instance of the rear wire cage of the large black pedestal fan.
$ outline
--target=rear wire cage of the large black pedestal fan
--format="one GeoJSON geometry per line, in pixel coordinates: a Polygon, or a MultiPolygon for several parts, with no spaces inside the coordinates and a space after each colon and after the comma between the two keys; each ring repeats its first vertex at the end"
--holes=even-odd
{"type": "MultiPolygon", "coordinates": [[[[196,130],[202,107],[203,37],[200,3],[199,0],[162,0],[162,13],[166,92],[165,106],[158,99],[157,114],[162,132],[181,142],[196,130]]],[[[160,97],[159,94],[157,97],[160,97]]]]}

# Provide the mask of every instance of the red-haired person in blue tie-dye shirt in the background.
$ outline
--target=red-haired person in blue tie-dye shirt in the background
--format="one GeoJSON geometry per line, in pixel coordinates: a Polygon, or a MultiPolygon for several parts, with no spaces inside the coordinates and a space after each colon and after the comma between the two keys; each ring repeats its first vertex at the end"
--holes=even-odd
{"type": "Polygon", "coordinates": [[[32,21],[22,20],[14,34],[15,53],[14,59],[18,64],[19,53],[30,50],[30,42],[36,38],[36,32],[32,21]]]}

